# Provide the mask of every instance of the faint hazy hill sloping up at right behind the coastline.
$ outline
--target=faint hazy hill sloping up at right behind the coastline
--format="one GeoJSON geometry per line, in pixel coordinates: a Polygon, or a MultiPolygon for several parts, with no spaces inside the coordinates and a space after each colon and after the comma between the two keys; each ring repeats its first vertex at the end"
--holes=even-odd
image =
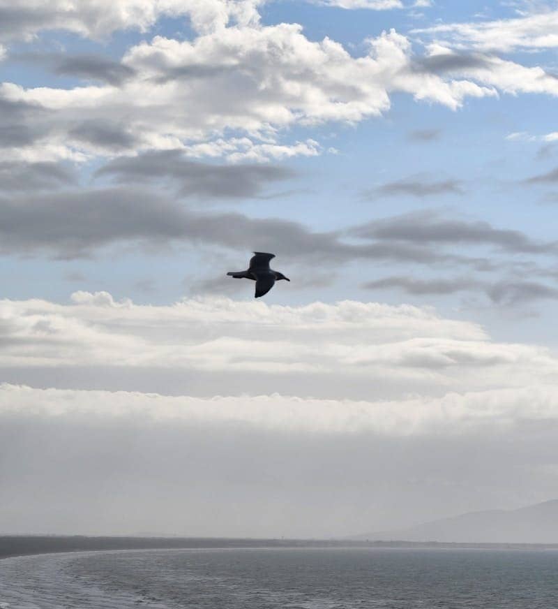
{"type": "Polygon", "coordinates": [[[518,510],[470,512],[408,529],[355,536],[377,541],[457,543],[558,543],[558,500],[518,510]]]}

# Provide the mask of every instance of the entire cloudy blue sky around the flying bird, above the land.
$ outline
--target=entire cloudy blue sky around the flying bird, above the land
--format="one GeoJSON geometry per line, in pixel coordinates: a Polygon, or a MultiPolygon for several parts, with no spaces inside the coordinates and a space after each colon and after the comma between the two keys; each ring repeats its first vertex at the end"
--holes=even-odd
{"type": "Polygon", "coordinates": [[[558,497],[558,2],[0,0],[0,532],[558,497]],[[276,254],[263,299],[243,270],[276,254]]]}

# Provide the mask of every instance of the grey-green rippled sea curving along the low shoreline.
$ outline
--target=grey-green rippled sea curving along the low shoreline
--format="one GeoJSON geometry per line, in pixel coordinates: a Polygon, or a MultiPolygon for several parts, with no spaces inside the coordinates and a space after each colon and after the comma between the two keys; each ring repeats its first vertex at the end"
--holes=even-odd
{"type": "Polygon", "coordinates": [[[557,550],[257,548],[0,560],[1,609],[553,609],[557,550]]]}

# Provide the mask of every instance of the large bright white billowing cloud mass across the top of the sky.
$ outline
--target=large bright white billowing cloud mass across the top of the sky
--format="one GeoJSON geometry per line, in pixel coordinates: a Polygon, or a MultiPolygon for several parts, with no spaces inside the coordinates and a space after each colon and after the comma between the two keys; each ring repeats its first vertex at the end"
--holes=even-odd
{"type": "Polygon", "coordinates": [[[156,36],[131,47],[119,66],[126,73],[122,82],[72,89],[3,83],[0,100],[34,108],[24,122],[35,135],[24,145],[4,147],[3,158],[85,161],[179,148],[232,161],[313,156],[322,152],[313,140],[281,142],[278,133],[381,116],[399,91],[453,110],[466,98],[500,92],[558,95],[558,80],[542,68],[488,55],[476,57],[476,65],[429,68],[424,61],[451,56],[451,48],[432,44],[417,56],[409,38],[393,30],[371,38],[363,57],[352,57],[329,38],[310,41],[298,24],[262,26],[258,4],[122,0],[99,13],[98,3],[80,10],[64,3],[60,14],[69,19],[71,13],[68,23],[84,35],[124,23],[146,28],[157,15],[177,12],[193,15],[199,35],[191,41],[156,36]],[[234,27],[226,27],[229,17],[234,27]]]}

